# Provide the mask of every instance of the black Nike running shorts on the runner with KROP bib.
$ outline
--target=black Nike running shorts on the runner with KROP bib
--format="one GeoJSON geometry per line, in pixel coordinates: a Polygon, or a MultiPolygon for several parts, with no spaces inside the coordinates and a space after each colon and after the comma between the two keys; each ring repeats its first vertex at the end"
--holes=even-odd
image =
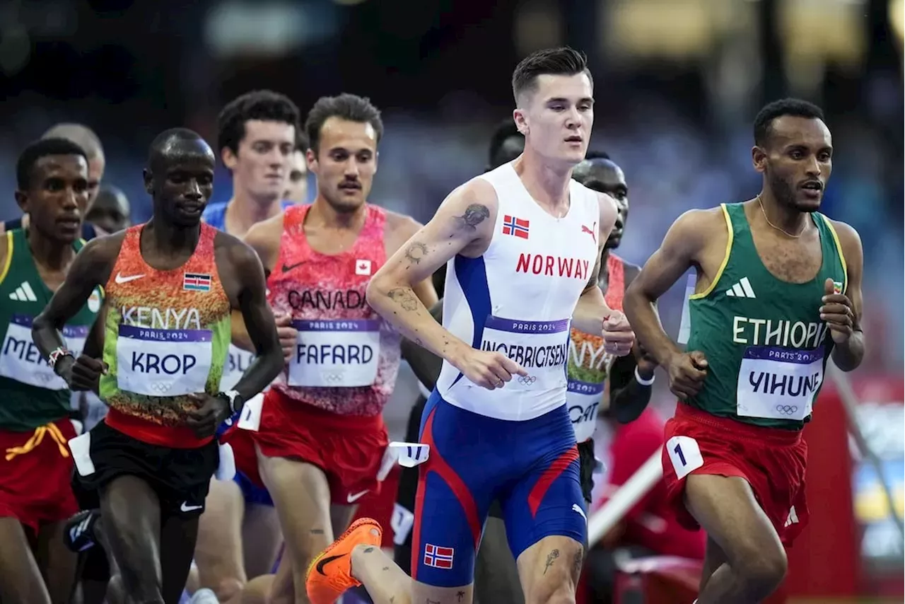
{"type": "Polygon", "coordinates": [[[100,422],[91,428],[94,472],[75,471],[73,491],[82,509],[100,507],[100,490],[122,475],[147,482],[160,500],[163,516],[193,518],[205,511],[211,476],[220,464],[216,440],[195,449],[148,445],[100,422]]]}

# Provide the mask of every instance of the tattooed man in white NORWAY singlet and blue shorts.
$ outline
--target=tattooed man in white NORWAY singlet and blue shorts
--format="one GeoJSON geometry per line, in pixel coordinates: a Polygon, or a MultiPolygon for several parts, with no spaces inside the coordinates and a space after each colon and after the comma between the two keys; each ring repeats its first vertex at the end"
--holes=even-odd
{"type": "Polygon", "coordinates": [[[494,498],[528,604],[575,601],[586,511],[566,406],[570,322],[628,354],[634,335],[597,286],[612,198],[573,181],[594,120],[583,54],[533,53],[512,76],[526,135],[515,161],[457,188],[368,286],[367,300],[443,357],[424,409],[412,578],[360,519],[308,574],[313,604],[363,583],[376,604],[472,601],[474,553],[494,498]],[[412,290],[447,268],[442,327],[412,290]],[[445,329],[444,329],[445,327],[445,329]]]}

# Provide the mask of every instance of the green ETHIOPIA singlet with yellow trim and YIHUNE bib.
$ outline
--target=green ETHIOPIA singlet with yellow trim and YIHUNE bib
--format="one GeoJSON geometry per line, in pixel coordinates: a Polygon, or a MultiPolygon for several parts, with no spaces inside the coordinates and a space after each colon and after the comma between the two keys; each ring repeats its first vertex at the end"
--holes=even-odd
{"type": "Polygon", "coordinates": [[[729,243],[710,287],[691,295],[687,350],[700,350],[709,368],[688,400],[714,416],[763,427],[798,430],[810,421],[824,382],[833,339],[820,319],[824,283],[845,292],[842,247],[830,221],[812,218],[823,264],[807,283],[786,283],[760,260],[742,204],[723,204],[729,243]]]}

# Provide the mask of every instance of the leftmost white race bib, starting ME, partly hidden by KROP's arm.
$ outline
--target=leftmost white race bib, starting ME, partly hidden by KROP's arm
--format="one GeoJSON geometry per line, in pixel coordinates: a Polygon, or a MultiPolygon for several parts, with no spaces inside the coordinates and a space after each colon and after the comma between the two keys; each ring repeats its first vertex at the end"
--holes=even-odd
{"type": "MultiPolygon", "coordinates": [[[[85,348],[88,331],[87,326],[66,326],[62,329],[66,348],[76,357],[85,348]]],[[[6,329],[3,350],[0,351],[0,375],[37,388],[48,390],[69,388],[64,379],[53,373],[51,366],[41,356],[41,351],[34,345],[32,318],[20,314],[13,315],[6,329]]]]}

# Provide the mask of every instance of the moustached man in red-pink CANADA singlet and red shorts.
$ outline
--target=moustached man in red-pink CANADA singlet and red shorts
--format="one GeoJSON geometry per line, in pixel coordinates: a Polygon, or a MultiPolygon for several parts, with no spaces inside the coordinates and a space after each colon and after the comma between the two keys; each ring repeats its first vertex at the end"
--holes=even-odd
{"type": "MultiPolygon", "coordinates": [[[[266,484],[280,515],[286,553],[271,604],[309,601],[308,564],[346,528],[357,501],[380,488],[387,445],[381,412],[395,385],[400,336],[367,305],[365,289],[420,226],[366,202],[383,133],[367,99],[322,98],[305,129],[318,196],[245,237],[270,272],[274,312],[290,313],[299,331],[296,354],[252,432],[261,475],[241,460],[238,468],[266,484]]],[[[436,302],[430,280],[418,294],[436,302]]],[[[233,342],[242,340],[234,331],[233,342]]]]}

